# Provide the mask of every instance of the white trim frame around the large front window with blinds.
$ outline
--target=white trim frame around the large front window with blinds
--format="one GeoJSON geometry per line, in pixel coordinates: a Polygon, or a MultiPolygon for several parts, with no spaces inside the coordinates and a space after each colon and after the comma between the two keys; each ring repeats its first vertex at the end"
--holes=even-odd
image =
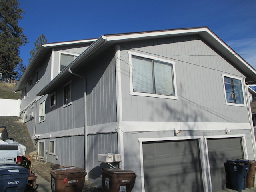
{"type": "Polygon", "coordinates": [[[129,55],[129,70],[130,70],[130,93],[129,93],[129,95],[156,97],[156,98],[166,98],[166,99],[178,100],[178,92],[177,92],[177,84],[176,84],[176,72],[175,72],[175,62],[174,61],[158,58],[156,56],[148,56],[148,55],[144,55],[144,54],[140,54],[140,53],[136,53],[136,52],[132,52],[132,51],[127,51],[127,53],[129,55]],[[152,60],[156,60],[156,61],[172,64],[173,82],[174,82],[174,96],[152,94],[152,93],[134,92],[133,91],[133,82],[132,82],[132,56],[140,56],[140,57],[144,57],[144,58],[148,58],[148,59],[152,59],[152,60]]]}

